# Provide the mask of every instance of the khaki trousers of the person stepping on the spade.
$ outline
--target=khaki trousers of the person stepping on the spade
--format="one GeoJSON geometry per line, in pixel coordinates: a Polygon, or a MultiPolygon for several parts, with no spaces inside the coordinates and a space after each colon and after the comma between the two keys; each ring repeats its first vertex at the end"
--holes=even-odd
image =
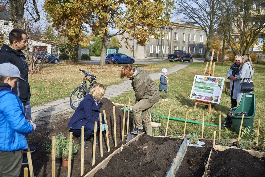
{"type": "Polygon", "coordinates": [[[132,107],[136,128],[143,129],[143,124],[142,124],[143,121],[146,134],[151,136],[152,136],[152,127],[151,127],[150,114],[154,104],[155,103],[149,103],[146,99],[142,99],[132,107]]]}

